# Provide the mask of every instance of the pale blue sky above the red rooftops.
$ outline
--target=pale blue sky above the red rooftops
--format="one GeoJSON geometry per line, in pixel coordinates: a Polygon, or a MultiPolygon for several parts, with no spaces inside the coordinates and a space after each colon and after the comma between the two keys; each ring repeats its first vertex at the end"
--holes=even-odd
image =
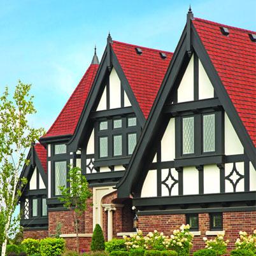
{"type": "Polygon", "coordinates": [[[174,51],[191,3],[195,17],[256,31],[256,2],[236,0],[0,0],[0,92],[32,83],[35,127],[48,129],[92,59],[113,39],[174,51]]]}

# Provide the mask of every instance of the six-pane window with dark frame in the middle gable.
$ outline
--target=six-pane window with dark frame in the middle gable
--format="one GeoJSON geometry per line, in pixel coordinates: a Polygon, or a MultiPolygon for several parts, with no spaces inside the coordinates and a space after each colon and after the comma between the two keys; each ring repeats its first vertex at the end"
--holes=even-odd
{"type": "Polygon", "coordinates": [[[96,125],[97,157],[126,157],[131,155],[140,129],[136,117],[115,117],[96,125]]]}

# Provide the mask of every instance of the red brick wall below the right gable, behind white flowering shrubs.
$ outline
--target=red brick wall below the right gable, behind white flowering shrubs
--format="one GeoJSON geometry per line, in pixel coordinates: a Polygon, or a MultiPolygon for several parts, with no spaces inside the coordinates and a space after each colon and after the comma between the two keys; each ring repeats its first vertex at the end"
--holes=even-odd
{"type": "MultiPolygon", "coordinates": [[[[185,224],[185,215],[147,215],[139,216],[138,226],[144,234],[150,231],[164,232],[166,235],[172,234],[174,229],[178,229],[181,224],[185,224]]],[[[246,231],[252,234],[256,228],[256,211],[227,212],[223,213],[223,229],[225,239],[229,239],[228,250],[234,249],[234,242],[238,238],[239,231],[246,231]]],[[[203,237],[206,231],[210,230],[210,217],[208,213],[199,214],[199,231],[201,236],[195,236],[192,252],[204,248],[203,237]]],[[[212,239],[215,236],[206,236],[212,239]]]]}

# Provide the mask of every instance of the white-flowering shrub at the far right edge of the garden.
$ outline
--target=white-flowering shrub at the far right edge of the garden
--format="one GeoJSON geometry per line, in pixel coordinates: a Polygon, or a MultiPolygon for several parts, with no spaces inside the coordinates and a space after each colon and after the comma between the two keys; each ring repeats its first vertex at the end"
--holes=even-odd
{"type": "Polygon", "coordinates": [[[236,239],[236,249],[250,250],[256,254],[256,229],[248,236],[246,232],[239,232],[240,238],[236,239]]]}

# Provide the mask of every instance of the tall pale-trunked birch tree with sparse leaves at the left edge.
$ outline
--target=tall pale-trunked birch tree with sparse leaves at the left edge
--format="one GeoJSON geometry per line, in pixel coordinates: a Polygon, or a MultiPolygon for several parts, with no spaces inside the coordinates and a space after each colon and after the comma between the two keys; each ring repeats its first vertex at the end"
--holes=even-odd
{"type": "Polygon", "coordinates": [[[2,253],[6,252],[7,239],[17,227],[18,218],[13,217],[22,187],[27,182],[20,178],[27,149],[44,132],[29,126],[28,117],[36,113],[30,95],[31,85],[18,81],[13,96],[8,87],[0,97],[0,212],[3,239],[2,253]]]}

